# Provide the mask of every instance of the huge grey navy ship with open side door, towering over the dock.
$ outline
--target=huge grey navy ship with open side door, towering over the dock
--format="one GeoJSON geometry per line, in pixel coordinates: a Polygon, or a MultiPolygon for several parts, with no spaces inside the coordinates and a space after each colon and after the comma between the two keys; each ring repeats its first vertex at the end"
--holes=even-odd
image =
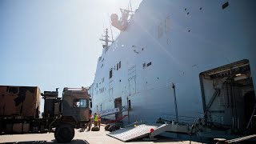
{"type": "Polygon", "coordinates": [[[93,111],[125,125],[202,118],[219,130],[255,134],[255,4],[146,0],[135,12],[112,14],[120,34],[103,38],[93,111]]]}

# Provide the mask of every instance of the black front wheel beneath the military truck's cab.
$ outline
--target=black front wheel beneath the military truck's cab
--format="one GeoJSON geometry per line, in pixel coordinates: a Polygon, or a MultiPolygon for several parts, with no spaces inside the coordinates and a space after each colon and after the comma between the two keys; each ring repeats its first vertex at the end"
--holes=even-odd
{"type": "Polygon", "coordinates": [[[67,124],[58,126],[55,130],[54,137],[57,142],[70,142],[74,138],[74,128],[67,124]]]}

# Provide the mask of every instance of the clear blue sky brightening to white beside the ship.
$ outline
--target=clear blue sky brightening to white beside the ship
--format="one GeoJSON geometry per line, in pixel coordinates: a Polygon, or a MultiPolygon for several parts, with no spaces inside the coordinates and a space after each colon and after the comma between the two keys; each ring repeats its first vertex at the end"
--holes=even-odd
{"type": "MultiPolygon", "coordinates": [[[[141,0],[131,0],[133,9],[141,0]]],[[[109,15],[129,0],[1,0],[0,85],[90,86],[109,15]]],[[[114,37],[118,30],[112,27],[114,37]]],[[[61,94],[59,94],[61,95],[61,94]]]]}

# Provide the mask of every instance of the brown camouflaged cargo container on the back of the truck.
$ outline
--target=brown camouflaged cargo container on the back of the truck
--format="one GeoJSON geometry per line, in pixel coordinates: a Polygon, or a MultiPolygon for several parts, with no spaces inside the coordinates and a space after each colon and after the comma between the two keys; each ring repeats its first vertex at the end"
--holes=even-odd
{"type": "Polygon", "coordinates": [[[0,86],[0,117],[38,118],[40,89],[37,86],[0,86]]]}

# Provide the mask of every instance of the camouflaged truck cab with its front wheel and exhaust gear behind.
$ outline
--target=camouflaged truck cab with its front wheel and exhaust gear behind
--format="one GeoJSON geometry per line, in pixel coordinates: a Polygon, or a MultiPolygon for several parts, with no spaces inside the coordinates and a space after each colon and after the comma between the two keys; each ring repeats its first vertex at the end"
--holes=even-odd
{"type": "Polygon", "coordinates": [[[45,91],[43,118],[51,118],[49,132],[55,128],[54,137],[58,142],[70,142],[74,138],[74,128],[82,128],[90,121],[91,101],[86,88],[65,87],[62,98],[58,90],[45,91]]]}

